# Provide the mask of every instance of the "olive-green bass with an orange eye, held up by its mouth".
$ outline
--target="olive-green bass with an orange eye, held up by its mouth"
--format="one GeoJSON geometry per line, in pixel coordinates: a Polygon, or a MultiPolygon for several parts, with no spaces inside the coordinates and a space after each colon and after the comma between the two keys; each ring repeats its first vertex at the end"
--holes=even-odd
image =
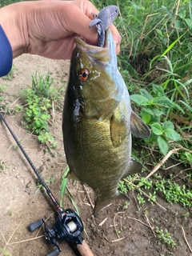
{"type": "Polygon", "coordinates": [[[150,129],[131,109],[110,29],[104,47],[74,41],[62,118],[67,178],[94,190],[96,217],[112,200],[129,200],[118,183],[142,170],[131,157],[131,134],[149,138],[150,129]]]}

